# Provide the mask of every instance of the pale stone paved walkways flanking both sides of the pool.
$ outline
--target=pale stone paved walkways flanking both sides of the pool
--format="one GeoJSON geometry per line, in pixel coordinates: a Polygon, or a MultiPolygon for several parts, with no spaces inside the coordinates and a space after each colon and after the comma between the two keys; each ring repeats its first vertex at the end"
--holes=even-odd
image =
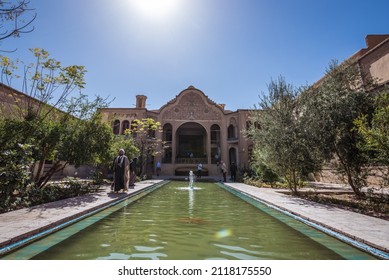
{"type": "MultiPolygon", "coordinates": [[[[2,249],[10,244],[133,195],[161,181],[162,178],[143,181],[137,183],[136,187],[130,189],[128,193],[119,194],[110,193],[107,186],[99,193],[0,214],[0,255],[2,249]]],[[[389,258],[389,221],[292,197],[275,189],[257,188],[242,183],[225,184],[384,251],[389,258]]]]}

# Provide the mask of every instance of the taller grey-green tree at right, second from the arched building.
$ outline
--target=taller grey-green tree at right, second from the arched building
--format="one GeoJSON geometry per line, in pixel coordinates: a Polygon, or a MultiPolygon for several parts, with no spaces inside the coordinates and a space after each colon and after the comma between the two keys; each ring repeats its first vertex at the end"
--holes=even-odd
{"type": "Polygon", "coordinates": [[[373,108],[372,94],[366,90],[373,81],[361,75],[352,61],[332,61],[325,78],[300,97],[303,123],[316,150],[327,162],[333,160],[357,196],[363,196],[361,188],[367,186],[368,155],[358,147],[361,136],[354,120],[373,108]]]}

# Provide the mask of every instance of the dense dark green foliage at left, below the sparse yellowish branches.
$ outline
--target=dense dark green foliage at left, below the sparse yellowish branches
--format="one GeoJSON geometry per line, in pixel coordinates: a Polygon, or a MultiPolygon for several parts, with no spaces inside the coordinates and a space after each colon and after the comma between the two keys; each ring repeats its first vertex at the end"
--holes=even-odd
{"type": "MultiPolygon", "coordinates": [[[[39,188],[43,188],[51,176],[67,164],[97,166],[111,160],[111,129],[98,115],[89,120],[71,118],[64,123],[38,119],[6,119],[3,121],[2,132],[0,143],[5,151],[18,151],[19,143],[28,145],[29,165],[35,162],[36,166],[36,174],[32,180],[39,188]],[[46,160],[51,160],[54,164],[50,170],[42,173],[46,160]]],[[[11,172],[10,169],[8,173],[11,172]]]]}

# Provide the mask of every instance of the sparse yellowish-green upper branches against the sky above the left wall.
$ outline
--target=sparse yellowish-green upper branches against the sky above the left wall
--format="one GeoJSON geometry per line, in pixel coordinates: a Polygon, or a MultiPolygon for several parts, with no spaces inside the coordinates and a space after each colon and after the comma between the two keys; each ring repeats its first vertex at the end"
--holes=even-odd
{"type": "Polygon", "coordinates": [[[63,116],[63,112],[58,111],[61,109],[69,115],[78,117],[79,111],[85,105],[85,96],[72,94],[74,91],[80,91],[85,85],[84,66],[62,66],[44,49],[34,48],[30,51],[34,56],[34,63],[12,61],[8,57],[0,56],[1,82],[12,87],[14,80],[22,78],[21,92],[38,101],[21,102],[13,115],[24,119],[54,119],[63,116]],[[72,99],[78,100],[78,103],[73,102],[77,106],[71,106],[72,99]]]}

